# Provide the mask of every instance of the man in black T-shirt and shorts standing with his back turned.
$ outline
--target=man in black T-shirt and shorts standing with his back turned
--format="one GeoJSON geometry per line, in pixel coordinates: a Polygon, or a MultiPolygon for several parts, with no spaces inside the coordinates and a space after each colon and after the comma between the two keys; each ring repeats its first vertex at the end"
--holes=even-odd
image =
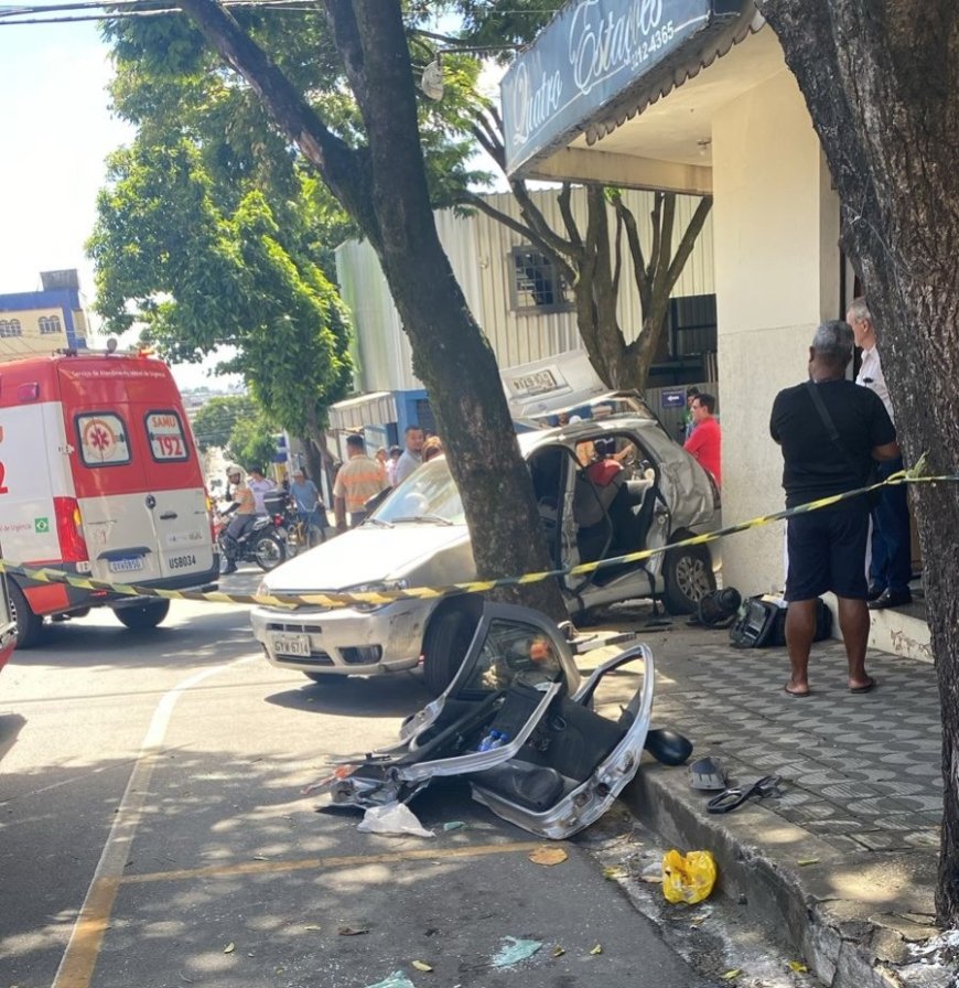
{"type": "MultiPolygon", "coordinates": [[[[896,430],[882,400],[845,379],[852,348],[849,323],[823,323],[809,348],[809,383],[779,391],[773,402],[769,432],[783,448],[786,507],[861,487],[873,460],[898,455],[896,430]],[[817,408],[813,388],[832,428],[817,408]],[[833,429],[836,437],[831,434],[833,429]]],[[[850,690],[868,692],[875,686],[865,672],[868,534],[869,504],[864,497],[796,515],[787,523],[786,645],[791,676],[786,692],[790,696],[809,696],[807,670],[816,634],[816,599],[827,590],[839,600],[850,690]]]]}

